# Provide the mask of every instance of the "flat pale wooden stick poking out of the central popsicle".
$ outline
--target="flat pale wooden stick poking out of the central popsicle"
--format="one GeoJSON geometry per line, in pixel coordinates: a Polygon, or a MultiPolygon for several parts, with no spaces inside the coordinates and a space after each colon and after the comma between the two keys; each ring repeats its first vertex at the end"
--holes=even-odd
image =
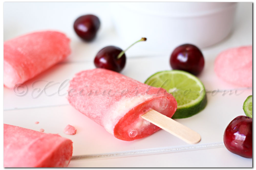
{"type": "Polygon", "coordinates": [[[195,144],[201,140],[200,135],[194,130],[153,109],[141,115],[141,117],[187,143],[195,144]]]}

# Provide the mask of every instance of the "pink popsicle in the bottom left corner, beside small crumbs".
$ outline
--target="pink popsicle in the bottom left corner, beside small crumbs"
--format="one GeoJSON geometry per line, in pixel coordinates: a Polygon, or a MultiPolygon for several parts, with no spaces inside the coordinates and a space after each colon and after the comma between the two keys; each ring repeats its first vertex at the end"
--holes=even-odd
{"type": "Polygon", "coordinates": [[[4,124],[4,167],[67,167],[72,151],[60,135],[4,124]]]}

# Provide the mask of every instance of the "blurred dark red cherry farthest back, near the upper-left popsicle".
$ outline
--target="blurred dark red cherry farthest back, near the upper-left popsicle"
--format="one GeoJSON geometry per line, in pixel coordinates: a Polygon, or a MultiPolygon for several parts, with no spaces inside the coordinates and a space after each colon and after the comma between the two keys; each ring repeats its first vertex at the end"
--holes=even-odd
{"type": "Polygon", "coordinates": [[[95,15],[83,15],[74,22],[74,30],[85,41],[92,41],[100,28],[100,20],[95,15]]]}

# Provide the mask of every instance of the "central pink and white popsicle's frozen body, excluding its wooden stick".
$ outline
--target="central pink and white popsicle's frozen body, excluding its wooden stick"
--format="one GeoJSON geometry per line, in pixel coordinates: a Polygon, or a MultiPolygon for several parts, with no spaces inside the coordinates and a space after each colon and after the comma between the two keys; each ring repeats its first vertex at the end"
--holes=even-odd
{"type": "Polygon", "coordinates": [[[165,89],[99,68],[74,76],[68,100],[116,138],[126,141],[146,137],[160,129],[140,115],[154,109],[172,117],[177,109],[175,98],[165,89]]]}

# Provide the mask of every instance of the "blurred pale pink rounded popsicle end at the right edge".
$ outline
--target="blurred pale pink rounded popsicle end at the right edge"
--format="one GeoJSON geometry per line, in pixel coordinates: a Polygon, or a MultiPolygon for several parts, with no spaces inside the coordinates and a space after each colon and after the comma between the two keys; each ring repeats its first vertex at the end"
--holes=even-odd
{"type": "Polygon", "coordinates": [[[252,87],[252,46],[223,51],[215,60],[214,71],[223,81],[252,87]]]}

